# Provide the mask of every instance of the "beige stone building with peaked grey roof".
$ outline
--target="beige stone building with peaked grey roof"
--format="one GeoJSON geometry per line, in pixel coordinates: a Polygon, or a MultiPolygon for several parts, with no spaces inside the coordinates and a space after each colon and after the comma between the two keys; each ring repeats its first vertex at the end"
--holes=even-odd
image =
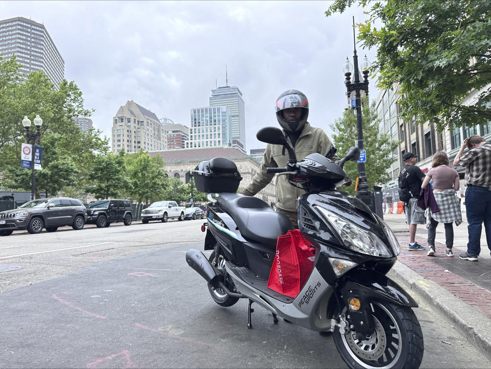
{"type": "Polygon", "coordinates": [[[154,112],[133,100],[126,101],[113,117],[112,152],[136,152],[140,149],[156,151],[167,149],[165,129],[154,112]]]}

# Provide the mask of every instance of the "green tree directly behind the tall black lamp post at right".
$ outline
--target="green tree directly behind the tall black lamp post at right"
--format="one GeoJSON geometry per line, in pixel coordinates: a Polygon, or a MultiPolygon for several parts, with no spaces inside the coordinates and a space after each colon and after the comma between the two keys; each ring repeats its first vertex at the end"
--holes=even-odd
{"type": "MultiPolygon", "coordinates": [[[[364,149],[366,150],[367,162],[365,163],[365,172],[367,174],[368,186],[386,183],[391,179],[386,169],[396,160],[392,152],[399,146],[400,141],[390,140],[389,136],[379,133],[380,119],[377,118],[375,110],[375,100],[371,106],[368,106],[368,97],[361,99],[362,106],[362,129],[364,149]]],[[[331,125],[334,134],[332,136],[333,145],[337,149],[337,155],[343,157],[350,147],[354,146],[353,132],[357,132],[356,115],[354,110],[346,110],[343,116],[336,119],[331,125]]],[[[356,171],[356,162],[347,161],[345,164],[346,173],[350,176],[353,184],[358,177],[356,171]]],[[[354,186],[344,187],[343,190],[354,194],[354,186]]]]}

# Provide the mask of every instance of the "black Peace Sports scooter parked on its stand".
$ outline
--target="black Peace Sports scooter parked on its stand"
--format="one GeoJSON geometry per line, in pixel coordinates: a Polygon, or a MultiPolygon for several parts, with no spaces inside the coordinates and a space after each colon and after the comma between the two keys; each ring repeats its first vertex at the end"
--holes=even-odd
{"type": "Polygon", "coordinates": [[[352,368],[418,368],[423,336],[411,308],[417,303],[386,274],[400,253],[396,237],[376,214],[357,198],[336,190],[346,181],[351,148],[338,165],[322,154],[297,162],[280,129],[266,127],[257,137],[283,145],[286,168],[268,168],[288,175],[293,186],[307,191],[298,198],[298,229],[315,248],[314,268],[296,297],[267,287],[277,238],[292,229],[291,221],[256,197],[237,194],[242,179],[225,158],[201,162],[193,172],[196,187],[208,192],[204,250],[186,253],[186,261],[207,282],[221,306],[240,298],[263,306],[277,316],[313,331],[331,331],[336,348],[352,368]],[[211,193],[219,193],[214,198],[211,193]],[[207,228],[206,228],[207,227],[207,228]]]}

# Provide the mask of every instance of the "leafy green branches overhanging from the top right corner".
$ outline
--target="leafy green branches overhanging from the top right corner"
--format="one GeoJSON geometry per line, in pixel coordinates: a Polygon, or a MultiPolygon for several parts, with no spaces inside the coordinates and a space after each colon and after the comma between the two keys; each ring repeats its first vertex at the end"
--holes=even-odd
{"type": "MultiPolygon", "coordinates": [[[[354,3],[337,0],[326,16],[354,3]]],[[[372,3],[359,24],[364,47],[377,48],[372,72],[378,86],[400,84],[405,120],[433,122],[438,130],[486,124],[491,119],[491,2],[483,0],[388,0],[372,3]],[[376,27],[376,24],[382,26],[376,27]],[[464,104],[478,92],[473,105],[464,104]]]]}

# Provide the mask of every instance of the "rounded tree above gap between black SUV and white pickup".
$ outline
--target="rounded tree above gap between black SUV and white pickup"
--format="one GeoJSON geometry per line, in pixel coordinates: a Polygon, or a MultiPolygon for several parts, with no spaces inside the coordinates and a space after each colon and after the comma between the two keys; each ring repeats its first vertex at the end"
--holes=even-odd
{"type": "Polygon", "coordinates": [[[140,149],[125,156],[126,175],[129,180],[130,197],[138,202],[162,199],[165,187],[164,161],[161,156],[150,155],[140,149]]]}

